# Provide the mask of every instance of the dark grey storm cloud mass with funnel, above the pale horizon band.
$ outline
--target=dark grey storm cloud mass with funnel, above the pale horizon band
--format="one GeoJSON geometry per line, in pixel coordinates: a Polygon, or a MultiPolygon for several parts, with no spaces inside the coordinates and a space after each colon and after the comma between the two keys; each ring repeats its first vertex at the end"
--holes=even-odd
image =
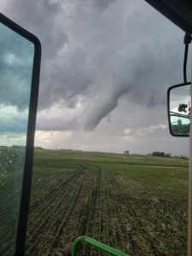
{"type": "Polygon", "coordinates": [[[9,0],[6,13],[42,42],[39,110],[62,100],[75,108],[73,98],[84,96],[85,130],[122,96],[155,108],[165,103],[167,84],[181,82],[183,33],[144,1],[9,0]]]}

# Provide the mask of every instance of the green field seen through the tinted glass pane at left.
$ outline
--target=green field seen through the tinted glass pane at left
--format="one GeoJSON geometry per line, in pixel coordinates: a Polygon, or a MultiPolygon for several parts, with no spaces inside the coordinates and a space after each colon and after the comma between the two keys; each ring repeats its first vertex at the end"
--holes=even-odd
{"type": "Polygon", "coordinates": [[[15,253],[24,148],[0,147],[0,255],[15,253]]]}

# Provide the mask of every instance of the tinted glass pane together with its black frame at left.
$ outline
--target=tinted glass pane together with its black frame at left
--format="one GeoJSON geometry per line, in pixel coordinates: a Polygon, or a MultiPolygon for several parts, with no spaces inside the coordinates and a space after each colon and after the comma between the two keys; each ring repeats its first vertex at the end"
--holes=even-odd
{"type": "Polygon", "coordinates": [[[41,44],[0,14],[0,255],[24,255],[41,44]]]}

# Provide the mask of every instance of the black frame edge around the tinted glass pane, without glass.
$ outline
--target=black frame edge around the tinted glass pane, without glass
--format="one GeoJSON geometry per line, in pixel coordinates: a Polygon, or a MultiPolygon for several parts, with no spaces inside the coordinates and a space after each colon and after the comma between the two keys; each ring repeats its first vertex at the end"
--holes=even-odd
{"type": "Polygon", "coordinates": [[[26,228],[30,204],[30,195],[32,187],[32,165],[33,165],[33,148],[34,148],[34,134],[36,125],[36,115],[38,109],[38,87],[40,77],[40,63],[41,63],[41,43],[36,36],[31,32],[26,31],[14,21],[9,20],[6,16],[0,13],[0,22],[9,27],[14,32],[20,34],[21,37],[26,38],[34,44],[34,59],[32,66],[32,84],[29,102],[28,124],[26,131],[26,155],[23,172],[23,180],[20,197],[20,212],[18,221],[18,230],[15,244],[15,256],[22,256],[25,253],[26,244],[26,228]]]}

